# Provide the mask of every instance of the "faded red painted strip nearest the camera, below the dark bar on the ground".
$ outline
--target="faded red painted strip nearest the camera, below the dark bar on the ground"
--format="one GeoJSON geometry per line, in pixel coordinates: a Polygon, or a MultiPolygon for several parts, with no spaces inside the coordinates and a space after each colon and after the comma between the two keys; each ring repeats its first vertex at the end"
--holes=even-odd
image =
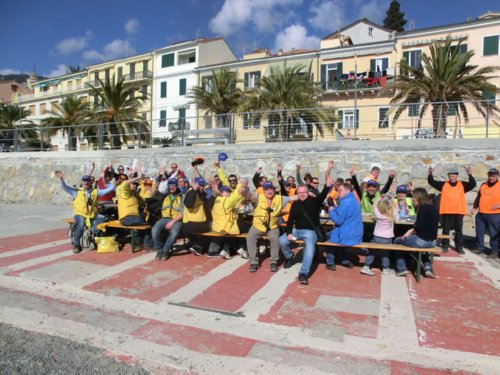
{"type": "Polygon", "coordinates": [[[245,357],[255,340],[180,324],[151,321],[132,336],[160,345],[180,345],[200,353],[245,357]]]}

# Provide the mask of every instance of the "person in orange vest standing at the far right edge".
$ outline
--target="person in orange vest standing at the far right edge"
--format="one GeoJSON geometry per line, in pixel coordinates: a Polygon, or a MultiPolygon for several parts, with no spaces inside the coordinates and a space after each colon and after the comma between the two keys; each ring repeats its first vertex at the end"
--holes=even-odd
{"type": "Polygon", "coordinates": [[[484,248],[484,236],[486,228],[490,232],[490,248],[491,252],[487,255],[488,258],[498,259],[498,242],[500,240],[500,183],[498,183],[498,169],[490,168],[488,170],[488,180],[483,182],[474,205],[471,209],[473,214],[478,210],[476,215],[476,254],[486,255],[484,248]]]}

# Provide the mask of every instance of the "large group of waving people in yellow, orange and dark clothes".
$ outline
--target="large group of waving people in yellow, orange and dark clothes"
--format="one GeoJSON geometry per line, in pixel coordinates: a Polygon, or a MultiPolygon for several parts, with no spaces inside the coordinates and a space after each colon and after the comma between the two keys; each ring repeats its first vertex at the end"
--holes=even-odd
{"type": "MultiPolygon", "coordinates": [[[[225,155],[225,154],[224,154],[225,155]]],[[[302,265],[298,281],[308,284],[311,265],[318,240],[324,240],[320,216],[329,219],[333,229],[326,240],[341,247],[325,247],[326,268],[334,271],[337,264],[353,268],[346,249],[364,241],[381,244],[403,244],[411,247],[436,246],[441,215],[443,234],[455,232],[455,250],[463,250],[463,218],[467,215],[465,193],[476,186],[471,168],[465,167],[468,181],[461,181],[458,169],[448,170],[446,181],[436,181],[434,168],[429,167],[428,184],[440,192],[438,199],[424,188],[412,183],[399,185],[391,193],[396,173],[388,172],[385,184],[379,182],[380,168],[373,167],[370,175],[358,181],[355,169],[350,178],[332,179],[334,162],[328,163],[325,184],[320,189],[318,177],[301,175],[297,165],[295,176],[283,177],[283,166],[278,164],[276,184],[258,168],[252,178],[255,191],[250,191],[249,180],[236,174],[227,175],[219,157],[214,162],[216,173],[208,179],[198,170],[204,159],[197,157],[191,163],[191,179],[172,163],[170,170],[159,169],[155,176],[145,177],[140,165],[134,168],[119,166],[117,171],[108,164],[97,181],[90,173],[82,177],[81,186],[69,186],[63,173],[56,171],[61,187],[73,198],[76,232],[73,251],[80,252],[80,237],[85,226],[97,232],[96,224],[104,220],[98,212],[99,202],[115,200],[117,218],[125,226],[150,224],[150,233],[142,236],[144,246],[156,251],[157,260],[167,260],[174,251],[187,249],[195,255],[217,256],[231,259],[235,254],[249,259],[249,271],[256,272],[261,264],[259,239],[269,239],[270,270],[279,267],[280,251],[283,267],[293,266],[298,257],[294,242],[303,241],[302,265]],[[328,213],[327,213],[328,212],[328,213]],[[374,218],[374,224],[363,224],[363,216],[374,218]],[[402,231],[395,225],[410,220],[414,225],[402,231]],[[210,232],[210,236],[202,235],[210,232]],[[242,237],[238,235],[246,233],[242,237]],[[220,236],[217,236],[220,234],[220,236]],[[188,241],[176,245],[177,239],[188,241]]],[[[253,190],[253,189],[252,189],[253,190]]],[[[478,191],[472,212],[476,215],[477,252],[486,254],[484,236],[490,233],[489,257],[498,258],[500,225],[500,185],[498,170],[488,170],[488,179],[478,191]]],[[[407,226],[406,226],[407,227],[407,226]]],[[[449,240],[441,242],[443,252],[449,249],[449,240]]],[[[395,270],[391,268],[388,251],[366,250],[361,273],[374,275],[373,266],[379,259],[383,274],[404,276],[408,273],[405,252],[396,255],[395,270]]],[[[424,274],[435,278],[428,256],[424,256],[424,274]]]]}

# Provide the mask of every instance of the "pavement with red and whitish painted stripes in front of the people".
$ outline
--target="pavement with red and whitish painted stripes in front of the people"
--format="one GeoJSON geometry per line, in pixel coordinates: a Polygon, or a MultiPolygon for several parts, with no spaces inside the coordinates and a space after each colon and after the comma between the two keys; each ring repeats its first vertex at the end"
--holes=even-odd
{"type": "Polygon", "coordinates": [[[0,212],[0,321],[152,373],[500,372],[498,260],[450,251],[420,284],[319,264],[303,286],[268,259],[72,254],[70,207],[0,212]]]}

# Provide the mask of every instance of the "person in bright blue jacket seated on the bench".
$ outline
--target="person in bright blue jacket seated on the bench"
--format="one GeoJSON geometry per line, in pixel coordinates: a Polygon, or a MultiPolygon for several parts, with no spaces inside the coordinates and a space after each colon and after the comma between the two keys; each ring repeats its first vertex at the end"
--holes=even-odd
{"type": "MultiPolygon", "coordinates": [[[[328,242],[333,242],[346,247],[354,246],[363,241],[363,217],[361,206],[352,192],[352,186],[342,184],[337,189],[338,205],[329,207],[330,220],[334,223],[334,228],[330,232],[328,242]]],[[[353,268],[353,264],[347,258],[345,250],[339,248],[337,255],[340,263],[347,268],[353,268]]],[[[334,250],[326,250],[326,268],[335,271],[334,250]]]]}

